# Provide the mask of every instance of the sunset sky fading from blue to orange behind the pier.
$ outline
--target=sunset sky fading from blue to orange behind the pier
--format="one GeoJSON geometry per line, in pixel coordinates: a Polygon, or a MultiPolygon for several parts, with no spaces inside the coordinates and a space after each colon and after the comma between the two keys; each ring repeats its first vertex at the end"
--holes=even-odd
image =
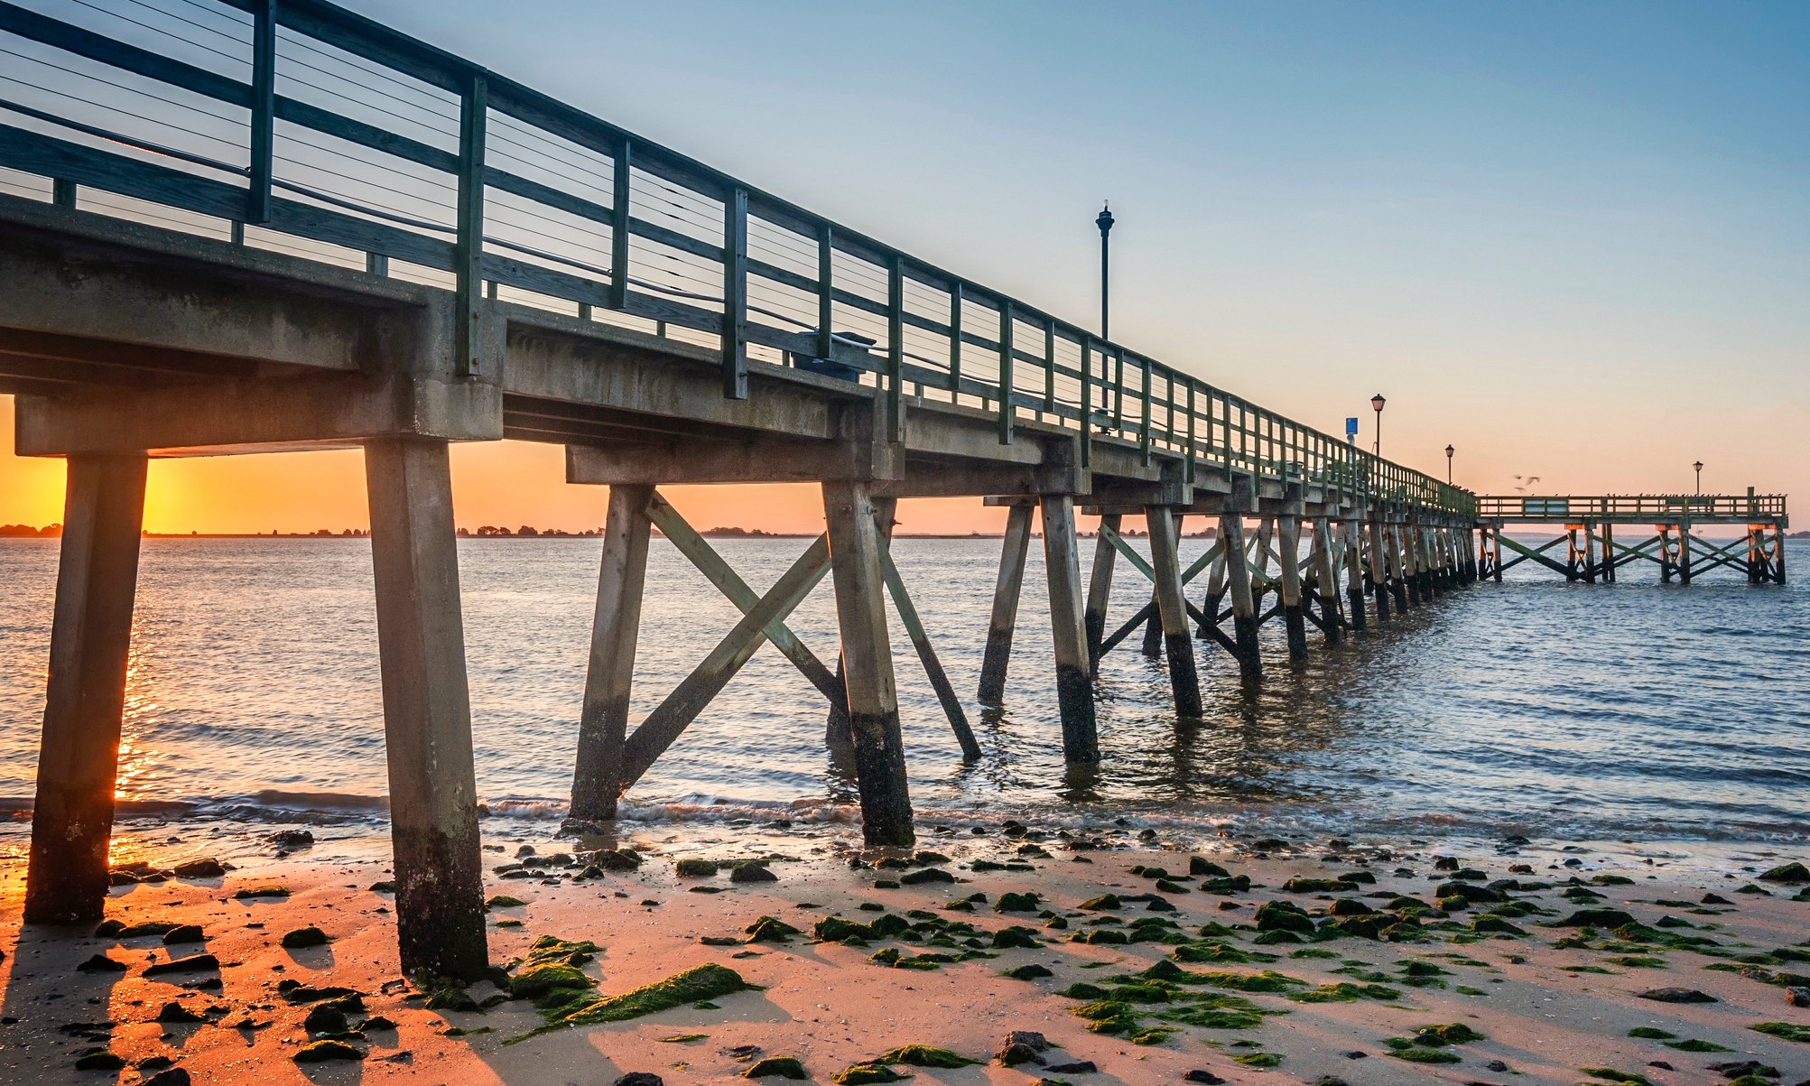
{"type": "MultiPolygon", "coordinates": [[[[1381,391],[1385,454],[1477,491],[1810,491],[1801,4],[351,7],[1088,326],[1111,199],[1113,338],[1365,443],[1381,391]]],[[[0,523],[62,519],[0,409],[0,523]]],[[[157,462],[147,527],[366,527],[358,456],[157,462]]],[[[452,463],[462,527],[603,519],[557,447],[452,463]]]]}

